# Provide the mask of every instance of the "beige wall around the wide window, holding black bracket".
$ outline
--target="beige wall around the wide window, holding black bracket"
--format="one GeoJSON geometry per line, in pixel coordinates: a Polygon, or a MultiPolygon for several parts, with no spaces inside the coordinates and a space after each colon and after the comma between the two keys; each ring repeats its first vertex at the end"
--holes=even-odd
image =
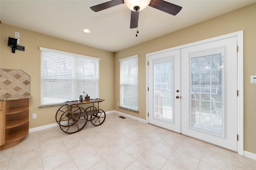
{"type": "MultiPolygon", "coordinates": [[[[0,68],[22,69],[31,76],[31,95],[29,99],[29,128],[40,127],[56,123],[55,113],[59,107],[38,109],[40,106],[40,50],[46,47],[60,51],[78,53],[100,58],[100,94],[105,99],[100,103],[104,111],[114,110],[114,53],[96,49],[86,45],[69,42],[59,38],[46,36],[37,32],[24,30],[14,26],[0,24],[0,68]],[[25,46],[25,51],[16,50],[7,46],[8,37],[14,38],[14,32],[20,32],[20,44],[25,46]],[[32,114],[37,113],[37,119],[32,119],[32,114]]],[[[90,94],[89,94],[90,95],[90,94]]]]}

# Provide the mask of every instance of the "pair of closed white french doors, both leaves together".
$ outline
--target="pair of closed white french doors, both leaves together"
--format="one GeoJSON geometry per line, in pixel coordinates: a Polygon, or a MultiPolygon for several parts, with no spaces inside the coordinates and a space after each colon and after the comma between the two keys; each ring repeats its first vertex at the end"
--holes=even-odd
{"type": "Polygon", "coordinates": [[[237,38],[148,56],[148,122],[237,151],[237,38]]]}

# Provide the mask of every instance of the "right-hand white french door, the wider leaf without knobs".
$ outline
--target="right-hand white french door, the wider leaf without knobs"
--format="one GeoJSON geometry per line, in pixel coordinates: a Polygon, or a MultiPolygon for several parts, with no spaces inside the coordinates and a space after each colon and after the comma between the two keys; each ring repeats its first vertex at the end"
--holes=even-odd
{"type": "Polygon", "coordinates": [[[182,134],[237,151],[237,40],[182,49],[182,134]]]}

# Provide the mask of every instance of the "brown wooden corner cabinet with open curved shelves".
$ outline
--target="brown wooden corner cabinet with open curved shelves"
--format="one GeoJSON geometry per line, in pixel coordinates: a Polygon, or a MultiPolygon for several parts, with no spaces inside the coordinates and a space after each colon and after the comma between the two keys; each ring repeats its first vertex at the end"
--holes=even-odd
{"type": "Polygon", "coordinates": [[[21,142],[28,134],[29,99],[0,101],[0,150],[21,142]]]}

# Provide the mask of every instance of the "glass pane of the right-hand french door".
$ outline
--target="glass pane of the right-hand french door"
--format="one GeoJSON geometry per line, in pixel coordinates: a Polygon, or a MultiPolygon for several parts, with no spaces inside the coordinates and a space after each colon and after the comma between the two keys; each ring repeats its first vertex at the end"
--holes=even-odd
{"type": "Polygon", "coordinates": [[[190,128],[223,135],[222,55],[190,58],[190,128]]]}

